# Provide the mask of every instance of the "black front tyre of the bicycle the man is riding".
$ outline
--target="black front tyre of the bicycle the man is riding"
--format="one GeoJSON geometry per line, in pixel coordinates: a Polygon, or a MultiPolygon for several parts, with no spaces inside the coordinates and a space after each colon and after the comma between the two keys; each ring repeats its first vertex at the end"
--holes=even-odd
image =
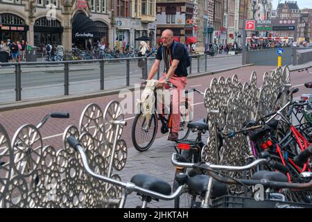
{"type": "MultiPolygon", "coordinates": [[[[157,134],[157,128],[158,128],[158,119],[157,119],[157,114],[155,113],[155,114],[152,114],[150,117],[150,123],[152,123],[152,122],[154,123],[152,137],[149,139],[149,142],[145,146],[141,146],[141,144],[139,143],[139,139],[136,136],[136,133],[139,132],[139,128],[142,130],[142,126],[139,126],[139,128],[137,127],[137,124],[138,124],[140,117],[144,118],[144,119],[141,119],[143,121],[142,124],[145,123],[145,117],[143,115],[144,114],[142,112],[140,112],[139,114],[136,114],[135,120],[132,123],[132,133],[131,133],[132,144],[133,144],[133,146],[135,146],[135,149],[139,152],[147,151],[148,148],[150,148],[150,146],[152,146],[152,144],[155,140],[155,137],[157,134]]],[[[142,132],[142,133],[144,133],[144,132],[142,132]]]]}

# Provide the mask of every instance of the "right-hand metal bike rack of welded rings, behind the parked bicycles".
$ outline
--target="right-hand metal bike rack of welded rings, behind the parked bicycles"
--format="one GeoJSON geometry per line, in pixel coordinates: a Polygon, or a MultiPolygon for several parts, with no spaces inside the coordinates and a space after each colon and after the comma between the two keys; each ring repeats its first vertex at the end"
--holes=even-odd
{"type": "MultiPolygon", "coordinates": [[[[241,83],[236,74],[232,78],[221,76],[211,80],[210,86],[205,91],[204,101],[208,112],[209,137],[207,146],[202,149],[203,161],[234,166],[245,163],[244,154],[248,153],[246,137],[238,134],[225,139],[218,151],[216,130],[223,130],[223,133],[239,130],[245,121],[256,120],[290,101],[291,98],[284,93],[276,104],[273,103],[282,89],[291,87],[289,73],[287,66],[279,67],[270,74],[266,72],[261,87],[257,87],[258,78],[254,71],[248,83],[241,83]],[[212,110],[218,113],[212,113],[212,110]]],[[[241,176],[237,174],[234,177],[241,176]]]]}

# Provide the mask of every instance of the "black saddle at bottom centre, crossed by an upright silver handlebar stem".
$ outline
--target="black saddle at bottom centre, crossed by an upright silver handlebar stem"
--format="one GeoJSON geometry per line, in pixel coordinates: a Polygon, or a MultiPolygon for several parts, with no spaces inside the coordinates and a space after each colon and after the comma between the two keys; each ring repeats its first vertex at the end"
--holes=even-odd
{"type": "MultiPolygon", "coordinates": [[[[196,194],[202,196],[207,191],[208,182],[209,176],[196,175],[189,178],[187,185],[189,187],[189,191],[194,191],[196,194]]],[[[214,180],[211,190],[211,198],[216,198],[225,194],[227,194],[227,185],[214,180]]]]}

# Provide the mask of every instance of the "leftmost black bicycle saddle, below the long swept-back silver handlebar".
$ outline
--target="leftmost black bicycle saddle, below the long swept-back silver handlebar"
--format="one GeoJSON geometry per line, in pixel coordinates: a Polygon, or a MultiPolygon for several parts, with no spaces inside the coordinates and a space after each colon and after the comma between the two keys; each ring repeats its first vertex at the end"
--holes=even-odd
{"type": "Polygon", "coordinates": [[[133,176],[130,181],[138,187],[149,189],[159,194],[171,194],[171,185],[169,185],[168,182],[162,179],[155,178],[154,176],[150,176],[147,174],[137,174],[133,176]]]}

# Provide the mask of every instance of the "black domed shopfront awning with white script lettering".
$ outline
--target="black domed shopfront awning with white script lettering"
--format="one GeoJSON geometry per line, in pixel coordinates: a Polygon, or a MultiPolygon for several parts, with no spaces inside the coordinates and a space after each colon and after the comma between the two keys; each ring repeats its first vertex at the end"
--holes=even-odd
{"type": "Polygon", "coordinates": [[[79,13],[73,17],[73,37],[96,37],[98,35],[98,27],[86,15],[79,13]]]}

